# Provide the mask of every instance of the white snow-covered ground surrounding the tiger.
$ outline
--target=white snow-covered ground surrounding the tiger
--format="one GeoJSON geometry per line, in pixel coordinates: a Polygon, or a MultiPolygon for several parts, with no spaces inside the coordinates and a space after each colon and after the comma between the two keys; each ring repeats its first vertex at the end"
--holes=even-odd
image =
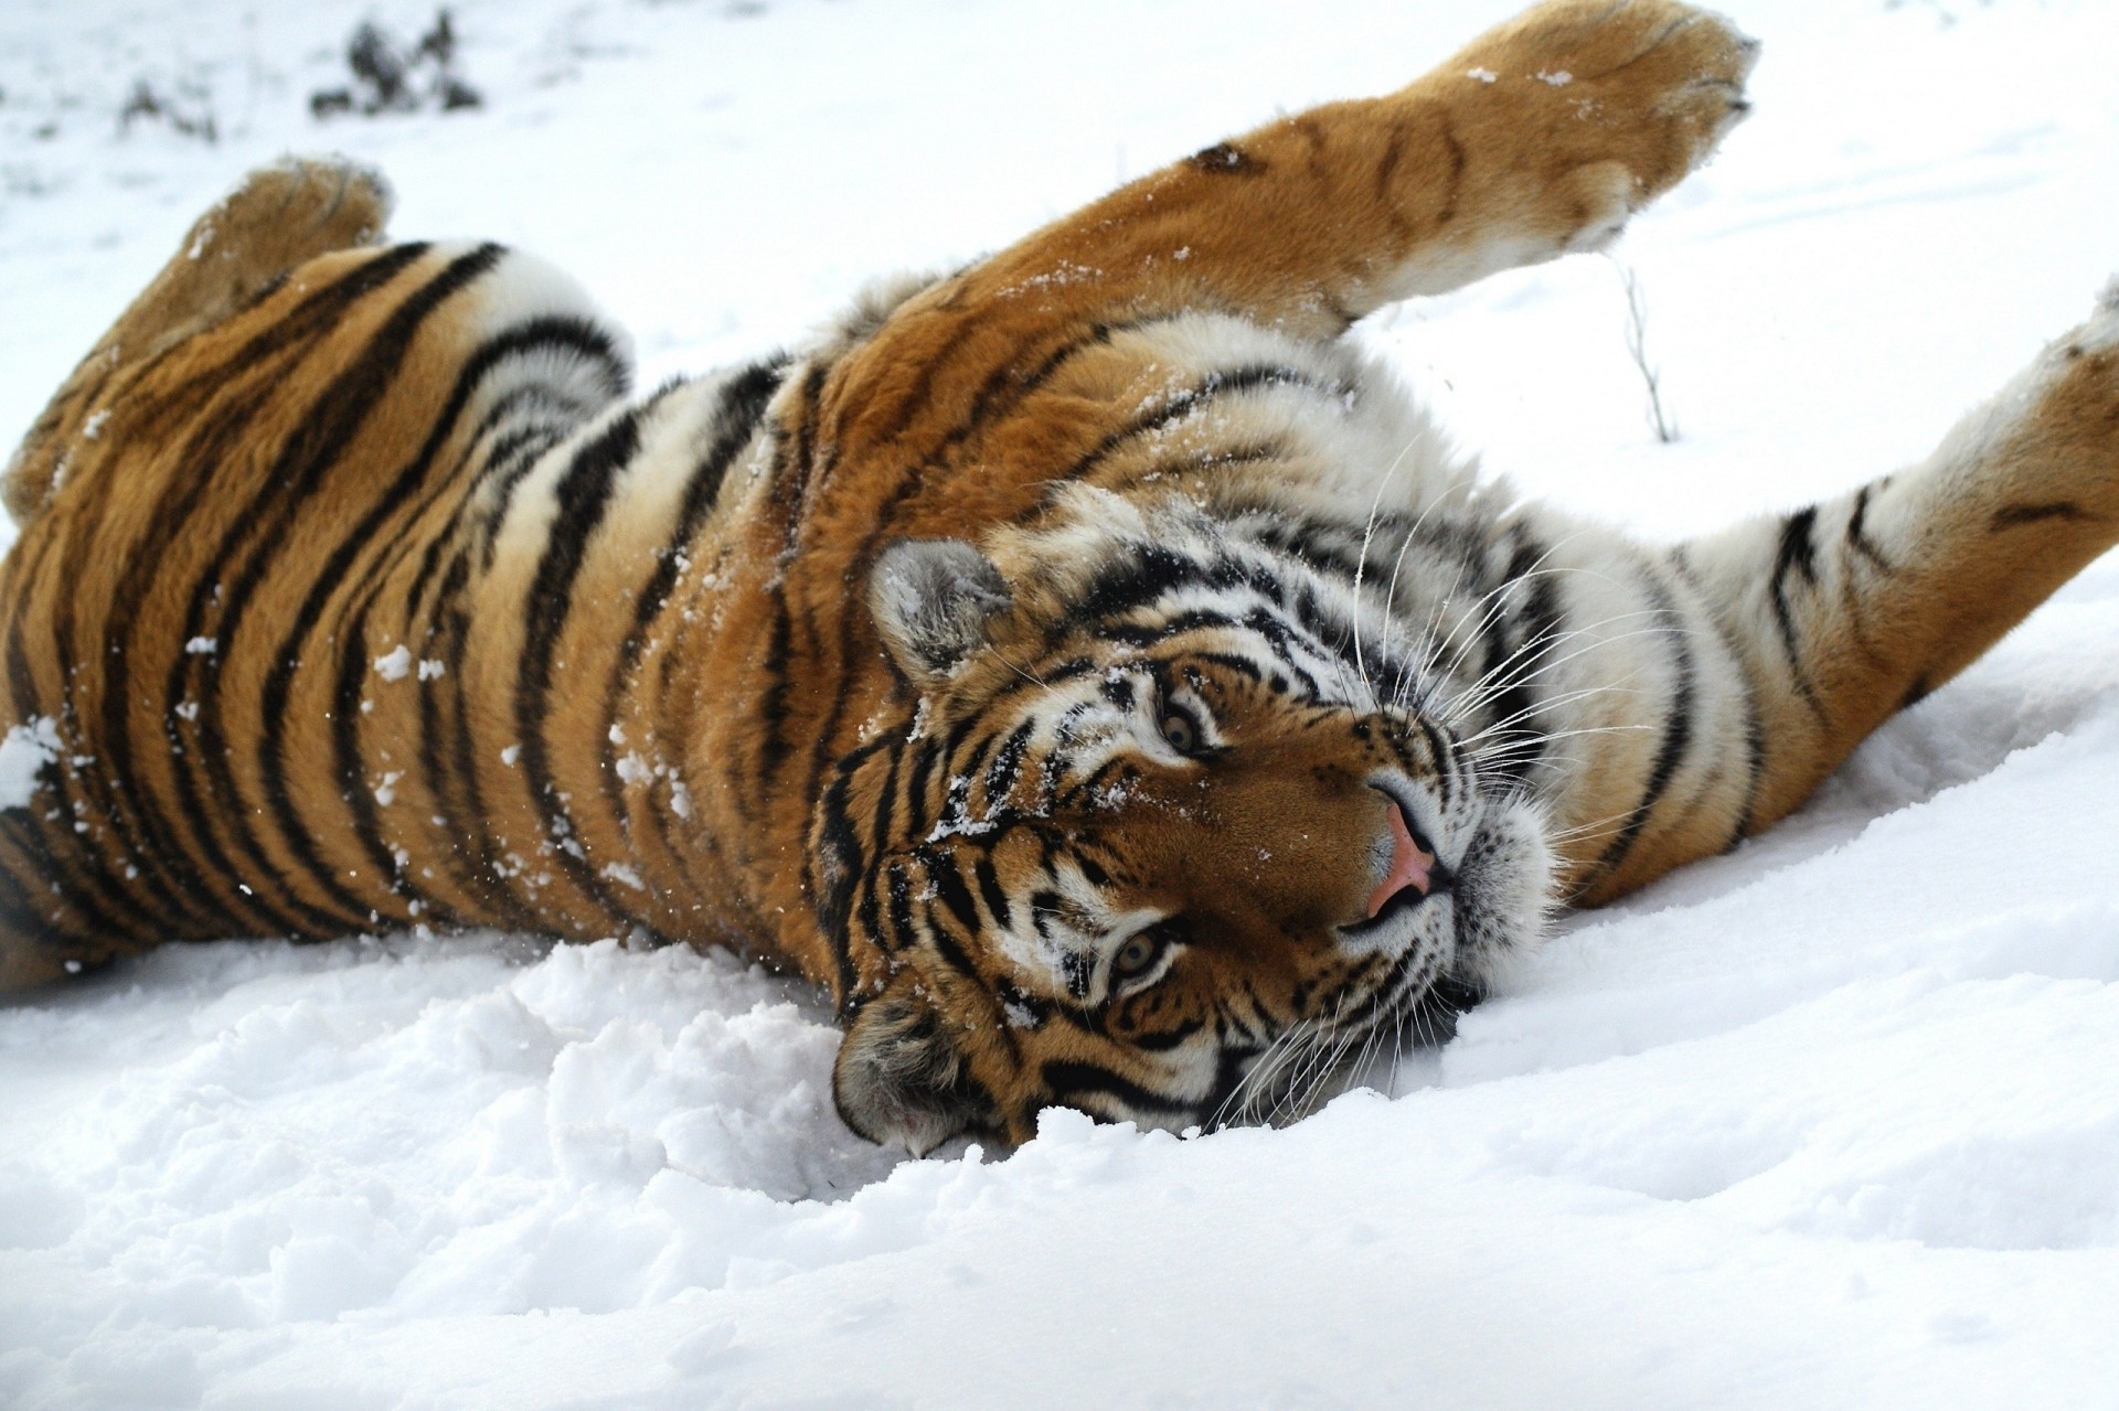
{"type": "MultiPolygon", "coordinates": [[[[0,11],[0,439],[235,176],[771,345],[1509,0],[477,0],[475,114],[318,125],[407,0],[0,11]],[[220,140],[119,136],[133,78],[220,140]]],[[[1685,532],[1920,456],[2119,267],[2119,8],[1750,0],[1757,114],[1606,261],[1363,337],[1526,489],[1685,532]]],[[[2119,561],[1795,820],[1574,917],[1396,1097],[894,1161],[816,994],[523,939],[170,951],[0,1008],[11,1407],[2096,1407],[2119,1396],[2119,561]]]]}

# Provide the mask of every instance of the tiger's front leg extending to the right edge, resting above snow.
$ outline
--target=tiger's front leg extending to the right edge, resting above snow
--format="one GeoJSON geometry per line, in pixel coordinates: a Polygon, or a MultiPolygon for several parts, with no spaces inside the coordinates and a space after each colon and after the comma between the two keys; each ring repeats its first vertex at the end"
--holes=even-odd
{"type": "MultiPolygon", "coordinates": [[[[1795,809],[1869,731],[1971,665],[2119,542],[2119,280],[1911,470],[1680,551],[1750,691],[1729,818],[1644,839],[1606,900],[1795,809]]],[[[1702,636],[1702,633],[1695,633],[1702,636]]],[[[1731,714],[1733,722],[1735,716],[1731,714]]]]}

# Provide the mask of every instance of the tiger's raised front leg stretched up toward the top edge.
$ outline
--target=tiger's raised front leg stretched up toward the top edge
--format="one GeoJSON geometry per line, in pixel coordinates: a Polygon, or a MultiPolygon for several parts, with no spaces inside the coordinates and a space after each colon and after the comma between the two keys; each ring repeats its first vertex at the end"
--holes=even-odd
{"type": "Polygon", "coordinates": [[[1549,0],[1396,93],[1210,146],[909,301],[845,369],[835,445],[892,439],[913,396],[949,409],[1034,377],[1083,331],[1206,309],[1335,337],[1593,250],[1744,114],[1755,57],[1676,0],[1549,0]]]}

